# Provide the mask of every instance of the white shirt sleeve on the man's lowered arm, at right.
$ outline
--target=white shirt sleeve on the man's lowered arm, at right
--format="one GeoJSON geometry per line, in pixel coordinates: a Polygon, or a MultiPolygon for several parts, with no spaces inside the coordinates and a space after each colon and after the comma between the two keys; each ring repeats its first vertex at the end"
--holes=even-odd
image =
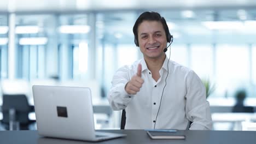
{"type": "Polygon", "coordinates": [[[191,121],[190,130],[212,129],[210,104],[206,100],[206,88],[201,79],[191,70],[186,80],[187,94],[185,111],[191,121]]]}

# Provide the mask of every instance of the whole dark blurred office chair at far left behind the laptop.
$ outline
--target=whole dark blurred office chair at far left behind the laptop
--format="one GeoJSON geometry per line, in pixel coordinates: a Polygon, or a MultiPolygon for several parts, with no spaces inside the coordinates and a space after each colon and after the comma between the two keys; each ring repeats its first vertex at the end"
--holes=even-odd
{"type": "Polygon", "coordinates": [[[28,125],[36,122],[28,119],[28,113],[34,112],[34,107],[28,105],[25,94],[3,94],[2,123],[10,128],[10,121],[19,122],[20,130],[28,130],[28,125]]]}

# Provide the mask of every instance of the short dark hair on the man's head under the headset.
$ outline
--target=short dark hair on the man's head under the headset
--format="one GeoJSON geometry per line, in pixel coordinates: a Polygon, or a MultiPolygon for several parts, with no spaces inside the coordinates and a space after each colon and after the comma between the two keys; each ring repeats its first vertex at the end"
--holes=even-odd
{"type": "Polygon", "coordinates": [[[143,21],[160,21],[162,23],[162,26],[164,26],[167,42],[170,43],[171,34],[169,32],[169,28],[167,26],[165,18],[162,17],[159,13],[156,13],[154,11],[152,11],[152,12],[146,11],[146,12],[142,13],[141,15],[139,15],[139,17],[136,20],[136,22],[133,26],[133,29],[132,29],[133,34],[134,34],[134,43],[135,43],[136,46],[139,46],[139,44],[138,44],[138,26],[143,21]]]}

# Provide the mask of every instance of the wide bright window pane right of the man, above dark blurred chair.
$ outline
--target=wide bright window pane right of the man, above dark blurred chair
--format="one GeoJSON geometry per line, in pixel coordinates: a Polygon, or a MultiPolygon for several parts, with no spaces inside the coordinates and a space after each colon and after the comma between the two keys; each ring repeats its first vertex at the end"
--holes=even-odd
{"type": "Polygon", "coordinates": [[[249,83],[249,51],[247,45],[217,45],[217,90],[233,97],[237,88],[249,83]]]}

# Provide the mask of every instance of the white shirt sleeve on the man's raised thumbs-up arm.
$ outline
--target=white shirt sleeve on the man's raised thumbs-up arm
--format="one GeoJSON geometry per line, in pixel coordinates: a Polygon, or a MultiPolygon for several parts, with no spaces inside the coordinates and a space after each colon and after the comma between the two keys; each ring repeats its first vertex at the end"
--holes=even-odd
{"type": "Polygon", "coordinates": [[[126,83],[130,81],[129,70],[128,66],[122,67],[113,76],[108,102],[115,111],[125,109],[134,96],[125,91],[126,83]]]}

